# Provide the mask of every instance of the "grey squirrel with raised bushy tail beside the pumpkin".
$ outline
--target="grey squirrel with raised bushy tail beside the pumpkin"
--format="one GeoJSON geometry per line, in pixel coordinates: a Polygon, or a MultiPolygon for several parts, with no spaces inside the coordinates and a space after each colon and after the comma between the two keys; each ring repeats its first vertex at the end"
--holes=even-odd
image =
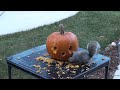
{"type": "Polygon", "coordinates": [[[73,51],[73,55],[68,59],[74,64],[93,64],[92,57],[100,51],[100,44],[97,41],[91,41],[87,44],[87,50],[73,51]]]}

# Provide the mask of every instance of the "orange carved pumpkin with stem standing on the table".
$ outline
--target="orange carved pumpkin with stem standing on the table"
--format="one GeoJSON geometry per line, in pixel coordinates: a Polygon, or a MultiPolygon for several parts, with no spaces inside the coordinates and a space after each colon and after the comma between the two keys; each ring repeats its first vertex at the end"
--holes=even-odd
{"type": "Polygon", "coordinates": [[[60,32],[53,32],[47,37],[46,48],[53,59],[66,61],[78,49],[78,39],[72,32],[64,32],[62,24],[59,29],[60,32]]]}

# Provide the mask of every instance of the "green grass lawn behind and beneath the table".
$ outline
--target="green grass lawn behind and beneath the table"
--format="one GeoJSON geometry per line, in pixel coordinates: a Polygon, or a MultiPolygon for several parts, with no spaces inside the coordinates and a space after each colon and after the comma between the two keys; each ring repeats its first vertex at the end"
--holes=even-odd
{"type": "MultiPolygon", "coordinates": [[[[117,11],[81,11],[51,25],[3,35],[0,36],[0,78],[8,78],[6,57],[45,44],[47,36],[58,31],[60,23],[64,24],[65,31],[76,34],[82,48],[86,48],[91,40],[97,40],[104,49],[107,44],[120,38],[120,12],[117,11]]],[[[34,78],[14,68],[12,76],[14,79],[34,78]]]]}

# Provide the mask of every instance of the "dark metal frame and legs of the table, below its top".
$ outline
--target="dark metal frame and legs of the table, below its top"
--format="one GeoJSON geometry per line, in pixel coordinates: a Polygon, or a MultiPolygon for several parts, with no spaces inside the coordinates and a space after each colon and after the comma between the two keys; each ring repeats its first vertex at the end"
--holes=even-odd
{"type": "MultiPolygon", "coordinates": [[[[11,62],[10,58],[7,58],[6,61],[7,61],[7,64],[8,64],[8,78],[9,79],[12,79],[12,75],[11,75],[11,73],[12,73],[12,67],[20,69],[20,70],[22,70],[22,71],[24,71],[24,72],[26,72],[26,73],[28,73],[30,75],[33,75],[33,76],[35,76],[37,78],[45,79],[43,77],[40,77],[36,73],[34,73],[32,71],[29,71],[29,70],[26,70],[25,68],[23,68],[23,67],[15,64],[15,63],[13,63],[13,62],[11,62]]],[[[91,73],[95,72],[96,70],[99,70],[100,68],[103,68],[103,67],[105,68],[105,79],[108,79],[109,61],[107,61],[107,62],[105,62],[103,64],[100,64],[99,66],[96,66],[94,68],[91,68],[90,70],[87,70],[87,71],[85,71],[83,73],[79,73],[79,75],[73,77],[73,79],[80,79],[80,78],[86,79],[87,75],[89,75],[89,74],[91,74],[91,73]]],[[[52,78],[49,78],[49,79],[52,79],[52,78]]]]}

